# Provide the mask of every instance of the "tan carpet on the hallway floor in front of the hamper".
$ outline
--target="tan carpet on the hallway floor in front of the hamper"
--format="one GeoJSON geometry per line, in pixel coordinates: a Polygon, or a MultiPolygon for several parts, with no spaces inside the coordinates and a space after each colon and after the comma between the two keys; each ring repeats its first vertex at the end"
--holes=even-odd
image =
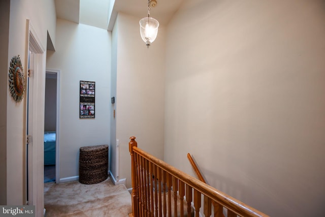
{"type": "Polygon", "coordinates": [[[126,217],[132,212],[131,195],[125,185],[114,185],[110,177],[97,184],[44,183],[44,192],[46,217],[126,217]]]}

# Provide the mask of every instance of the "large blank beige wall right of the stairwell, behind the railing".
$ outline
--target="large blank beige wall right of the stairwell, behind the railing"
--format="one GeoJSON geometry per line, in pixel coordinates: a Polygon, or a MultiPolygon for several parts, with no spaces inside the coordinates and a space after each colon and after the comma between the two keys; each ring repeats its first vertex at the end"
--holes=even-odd
{"type": "Polygon", "coordinates": [[[168,25],[165,160],[270,216],[325,211],[323,1],[190,0],[168,25]]]}

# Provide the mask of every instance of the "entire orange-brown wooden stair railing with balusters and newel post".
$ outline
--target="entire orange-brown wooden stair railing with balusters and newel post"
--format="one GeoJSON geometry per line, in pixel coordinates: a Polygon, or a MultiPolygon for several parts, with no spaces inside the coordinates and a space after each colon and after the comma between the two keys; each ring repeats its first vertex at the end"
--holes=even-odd
{"type": "Polygon", "coordinates": [[[223,216],[223,208],[228,217],[268,216],[141,150],[136,137],[130,139],[134,217],[199,217],[201,207],[211,216],[212,202],[215,217],[223,216]]]}

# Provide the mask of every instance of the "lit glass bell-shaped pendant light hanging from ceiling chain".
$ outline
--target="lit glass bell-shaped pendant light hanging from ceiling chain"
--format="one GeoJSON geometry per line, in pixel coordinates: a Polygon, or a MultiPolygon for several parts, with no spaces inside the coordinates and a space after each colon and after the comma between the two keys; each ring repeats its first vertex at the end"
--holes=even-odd
{"type": "Polygon", "coordinates": [[[148,17],[142,18],[140,23],[140,35],[142,40],[149,48],[150,44],[156,39],[158,33],[159,22],[150,17],[150,6],[155,7],[157,2],[155,0],[148,0],[148,17]]]}

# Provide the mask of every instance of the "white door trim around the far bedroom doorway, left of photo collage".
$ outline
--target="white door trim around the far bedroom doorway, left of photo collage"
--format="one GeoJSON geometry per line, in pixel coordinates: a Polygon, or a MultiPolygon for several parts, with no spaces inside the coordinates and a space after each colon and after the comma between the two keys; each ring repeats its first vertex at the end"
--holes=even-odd
{"type": "Polygon", "coordinates": [[[55,183],[60,183],[60,70],[47,69],[46,73],[56,74],[56,144],[55,144],[55,183]]]}

